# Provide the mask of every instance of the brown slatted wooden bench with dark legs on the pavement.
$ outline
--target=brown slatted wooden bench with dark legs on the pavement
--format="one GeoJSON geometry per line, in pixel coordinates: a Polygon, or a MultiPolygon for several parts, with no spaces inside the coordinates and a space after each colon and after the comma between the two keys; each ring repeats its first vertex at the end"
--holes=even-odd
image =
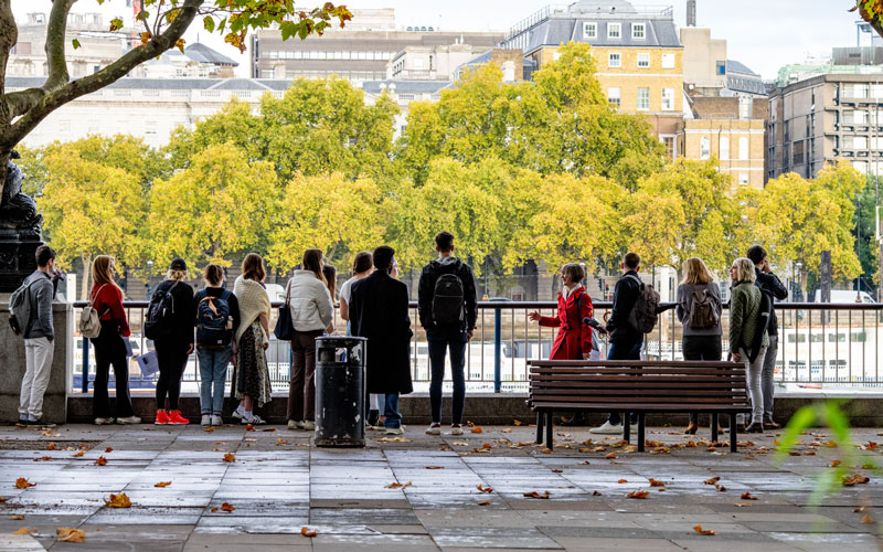
{"type": "MultiPolygon", "coordinates": [[[[645,414],[711,414],[712,442],[717,415],[730,415],[730,450],[736,452],[736,414],[749,413],[745,365],[736,362],[531,360],[530,399],[536,412],[536,443],[552,448],[555,412],[626,412],[638,416],[638,450],[645,449],[645,414]]],[[[623,418],[629,440],[629,415],[623,418]]]]}

